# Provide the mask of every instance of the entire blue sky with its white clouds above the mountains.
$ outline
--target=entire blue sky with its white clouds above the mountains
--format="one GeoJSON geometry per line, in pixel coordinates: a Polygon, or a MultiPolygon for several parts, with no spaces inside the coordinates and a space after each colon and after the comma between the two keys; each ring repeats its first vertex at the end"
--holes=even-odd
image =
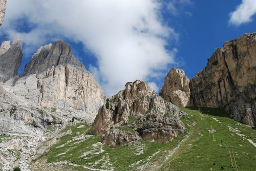
{"type": "Polygon", "coordinates": [[[9,0],[0,41],[15,38],[24,41],[20,74],[40,46],[64,39],[108,95],[117,93],[125,82],[136,78],[150,82],[159,91],[164,76],[177,63],[191,78],[205,67],[217,47],[243,33],[255,32],[256,28],[256,3],[252,0],[119,1],[123,4],[110,0],[102,5],[104,8],[84,3],[84,8],[93,9],[91,13],[83,13],[87,10],[79,5],[82,1],[74,4],[65,0],[66,6],[58,1],[9,0]],[[253,8],[248,10],[246,3],[253,8]],[[51,11],[49,6],[58,7],[51,11]],[[72,11],[71,8],[72,13],[65,12],[72,11]],[[236,10],[232,19],[230,13],[236,10]]]}

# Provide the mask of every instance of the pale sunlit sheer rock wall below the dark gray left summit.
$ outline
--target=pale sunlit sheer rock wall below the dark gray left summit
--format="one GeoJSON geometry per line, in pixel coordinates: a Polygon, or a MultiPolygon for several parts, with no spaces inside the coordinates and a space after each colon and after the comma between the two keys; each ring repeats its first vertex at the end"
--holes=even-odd
{"type": "Polygon", "coordinates": [[[38,106],[78,110],[88,123],[93,122],[104,103],[104,90],[93,75],[69,64],[21,77],[9,91],[38,106]]]}

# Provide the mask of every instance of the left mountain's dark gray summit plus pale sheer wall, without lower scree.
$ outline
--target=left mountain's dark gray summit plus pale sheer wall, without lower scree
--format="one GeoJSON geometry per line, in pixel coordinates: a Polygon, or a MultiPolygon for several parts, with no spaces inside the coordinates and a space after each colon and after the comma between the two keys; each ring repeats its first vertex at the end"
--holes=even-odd
{"type": "MultiPolygon", "coordinates": [[[[14,42],[0,56],[5,59],[1,63],[1,71],[14,71],[4,77],[5,81],[17,73],[22,58],[18,45],[20,44],[14,42]],[[15,56],[18,58],[14,58],[15,56]]],[[[2,48],[1,51],[6,50],[2,48]]],[[[24,74],[9,79],[5,87],[8,92],[25,97],[37,106],[78,110],[80,117],[88,123],[93,122],[98,109],[104,103],[104,90],[72,55],[71,47],[63,40],[39,48],[26,65],[24,74]]]]}

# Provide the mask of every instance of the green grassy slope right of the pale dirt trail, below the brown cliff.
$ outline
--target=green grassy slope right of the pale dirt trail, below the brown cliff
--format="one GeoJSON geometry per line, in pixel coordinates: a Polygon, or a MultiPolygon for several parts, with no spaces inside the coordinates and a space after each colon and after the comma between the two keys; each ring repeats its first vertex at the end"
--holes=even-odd
{"type": "Polygon", "coordinates": [[[250,126],[228,118],[222,109],[203,108],[204,120],[198,110],[182,110],[193,115],[185,123],[191,125],[195,121],[197,124],[190,127],[189,138],[160,170],[233,170],[228,146],[232,146],[239,170],[256,169],[256,148],[247,140],[255,142],[256,132],[250,126]],[[215,141],[208,132],[211,126],[216,130],[215,141]]]}

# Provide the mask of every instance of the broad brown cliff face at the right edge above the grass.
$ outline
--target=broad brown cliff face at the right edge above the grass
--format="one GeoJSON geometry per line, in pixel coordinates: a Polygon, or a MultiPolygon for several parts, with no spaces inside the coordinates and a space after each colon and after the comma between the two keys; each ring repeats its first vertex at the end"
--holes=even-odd
{"type": "Polygon", "coordinates": [[[255,125],[256,33],[225,42],[189,88],[194,106],[225,107],[235,120],[255,125]]]}

